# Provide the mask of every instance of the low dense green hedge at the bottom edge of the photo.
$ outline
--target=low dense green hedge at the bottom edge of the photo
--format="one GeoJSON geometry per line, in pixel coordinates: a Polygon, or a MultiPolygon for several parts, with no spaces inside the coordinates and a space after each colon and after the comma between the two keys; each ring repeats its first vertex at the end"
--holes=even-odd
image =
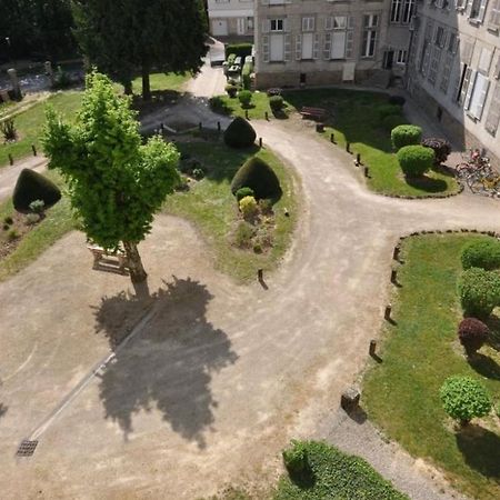
{"type": "Polygon", "coordinates": [[[287,464],[299,466],[299,477],[282,477],[273,500],[408,500],[368,462],[326,442],[293,441],[284,454],[296,459],[287,464]]]}

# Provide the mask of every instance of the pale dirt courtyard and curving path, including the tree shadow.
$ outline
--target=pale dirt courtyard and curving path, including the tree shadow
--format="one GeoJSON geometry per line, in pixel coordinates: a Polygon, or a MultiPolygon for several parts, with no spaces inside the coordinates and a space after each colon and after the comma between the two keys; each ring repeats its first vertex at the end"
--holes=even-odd
{"type": "Polygon", "coordinates": [[[254,126],[304,193],[268,290],[217,273],[193,228],[164,216],[141,246],[152,299],[92,270],[77,232],[0,284],[2,499],[192,499],[266,480],[363,367],[398,237],[499,228],[493,200],[379,197],[312,130],[254,126]],[[26,438],[38,448],[17,458],[26,438]]]}

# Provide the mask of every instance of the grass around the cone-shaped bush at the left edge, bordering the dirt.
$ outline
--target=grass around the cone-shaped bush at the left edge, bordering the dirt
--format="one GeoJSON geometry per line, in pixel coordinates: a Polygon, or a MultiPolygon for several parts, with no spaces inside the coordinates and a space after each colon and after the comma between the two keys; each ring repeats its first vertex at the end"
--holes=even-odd
{"type": "MultiPolygon", "coordinates": [[[[62,179],[53,171],[44,172],[60,188],[62,179]]],[[[12,200],[8,199],[0,204],[0,220],[13,212],[12,200]]],[[[69,199],[63,196],[61,200],[46,212],[47,217],[28,232],[16,250],[0,261],[0,281],[4,281],[28,264],[33,262],[49,247],[62,238],[67,232],[77,228],[72,217],[69,199]]]]}

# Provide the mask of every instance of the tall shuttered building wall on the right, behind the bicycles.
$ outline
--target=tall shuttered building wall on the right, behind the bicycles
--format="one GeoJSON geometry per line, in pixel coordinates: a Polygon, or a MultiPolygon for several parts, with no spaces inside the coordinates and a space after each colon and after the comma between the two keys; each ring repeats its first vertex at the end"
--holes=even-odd
{"type": "MultiPolygon", "coordinates": [[[[500,0],[426,0],[408,90],[463,147],[500,159],[500,0]]],[[[497,162],[498,164],[498,162],[497,162]]]]}

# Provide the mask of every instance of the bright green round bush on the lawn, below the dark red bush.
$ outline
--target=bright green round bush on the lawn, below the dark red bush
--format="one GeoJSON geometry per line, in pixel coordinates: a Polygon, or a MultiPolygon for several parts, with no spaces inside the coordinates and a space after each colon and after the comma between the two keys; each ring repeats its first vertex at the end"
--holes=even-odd
{"type": "Polygon", "coordinates": [[[491,399],[484,386],[470,377],[453,376],[439,390],[444,411],[462,424],[491,411],[491,399]]]}

